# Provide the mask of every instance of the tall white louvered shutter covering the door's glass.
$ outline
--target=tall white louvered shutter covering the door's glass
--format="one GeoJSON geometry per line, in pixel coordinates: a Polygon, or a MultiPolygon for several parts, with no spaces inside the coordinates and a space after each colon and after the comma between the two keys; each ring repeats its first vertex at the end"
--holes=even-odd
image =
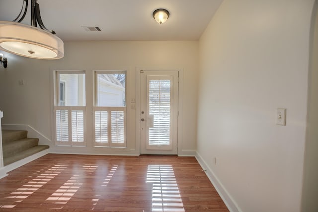
{"type": "Polygon", "coordinates": [[[153,120],[152,125],[148,127],[148,149],[170,148],[171,146],[171,80],[167,77],[161,78],[148,77],[147,79],[149,114],[147,119],[151,120],[151,117],[153,120]]]}

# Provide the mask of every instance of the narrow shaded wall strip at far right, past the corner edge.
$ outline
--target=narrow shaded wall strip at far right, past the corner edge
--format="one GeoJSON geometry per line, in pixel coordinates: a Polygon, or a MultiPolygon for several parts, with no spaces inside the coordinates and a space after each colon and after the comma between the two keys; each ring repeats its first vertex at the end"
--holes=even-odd
{"type": "Polygon", "coordinates": [[[318,211],[318,0],[312,19],[302,212],[318,211]]]}

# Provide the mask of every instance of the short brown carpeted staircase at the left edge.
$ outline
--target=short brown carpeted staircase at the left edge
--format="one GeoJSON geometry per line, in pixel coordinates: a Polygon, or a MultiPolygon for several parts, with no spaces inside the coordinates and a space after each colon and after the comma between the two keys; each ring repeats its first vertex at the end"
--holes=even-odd
{"type": "Polygon", "coordinates": [[[26,130],[2,130],[2,150],[4,166],[48,149],[38,145],[38,138],[27,138],[26,130]]]}

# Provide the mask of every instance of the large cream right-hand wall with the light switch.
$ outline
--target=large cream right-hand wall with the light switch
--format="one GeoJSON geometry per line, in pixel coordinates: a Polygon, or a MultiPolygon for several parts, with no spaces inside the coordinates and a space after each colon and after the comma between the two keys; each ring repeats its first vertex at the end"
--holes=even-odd
{"type": "Polygon", "coordinates": [[[300,211],[313,3],[224,0],[199,41],[197,157],[233,211],[300,211]]]}

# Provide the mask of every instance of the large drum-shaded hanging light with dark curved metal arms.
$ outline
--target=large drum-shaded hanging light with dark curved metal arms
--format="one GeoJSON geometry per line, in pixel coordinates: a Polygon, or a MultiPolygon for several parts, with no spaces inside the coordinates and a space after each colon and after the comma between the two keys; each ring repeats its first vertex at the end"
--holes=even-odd
{"type": "Polygon", "coordinates": [[[26,15],[28,0],[23,0],[21,12],[13,22],[0,21],[0,49],[29,58],[63,58],[63,41],[44,26],[36,1],[31,0],[31,25],[20,23],[26,15]]]}

